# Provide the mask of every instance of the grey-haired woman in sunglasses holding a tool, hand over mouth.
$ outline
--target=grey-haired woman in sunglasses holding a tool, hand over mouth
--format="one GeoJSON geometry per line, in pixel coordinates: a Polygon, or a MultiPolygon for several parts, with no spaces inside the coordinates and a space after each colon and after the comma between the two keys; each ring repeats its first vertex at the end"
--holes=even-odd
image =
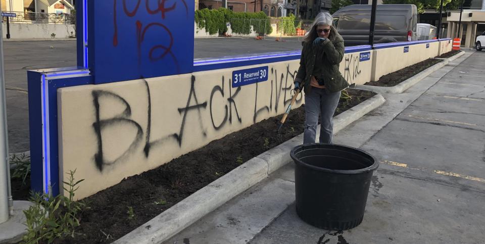
{"type": "Polygon", "coordinates": [[[314,143],[318,116],[320,142],[332,143],[333,113],[340,91],[349,83],[338,66],[344,57],[344,40],[332,26],[329,13],[319,13],[303,42],[295,90],[305,92],[305,131],[303,143],[314,143]]]}

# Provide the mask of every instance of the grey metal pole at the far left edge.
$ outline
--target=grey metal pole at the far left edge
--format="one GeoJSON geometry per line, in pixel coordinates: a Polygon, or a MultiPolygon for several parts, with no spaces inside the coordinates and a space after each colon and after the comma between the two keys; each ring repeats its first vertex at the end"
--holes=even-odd
{"type": "MultiPolygon", "coordinates": [[[[2,6],[0,3],[0,16],[2,6]]],[[[13,212],[12,194],[10,191],[10,165],[7,140],[7,111],[5,107],[5,73],[4,42],[2,24],[0,24],[0,223],[9,220],[13,212]],[[11,211],[10,211],[11,210],[11,211]]]]}

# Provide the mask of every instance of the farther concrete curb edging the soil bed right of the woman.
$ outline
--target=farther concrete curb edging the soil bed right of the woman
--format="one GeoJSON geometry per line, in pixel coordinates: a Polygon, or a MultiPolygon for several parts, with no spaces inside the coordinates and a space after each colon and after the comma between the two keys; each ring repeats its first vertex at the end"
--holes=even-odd
{"type": "Polygon", "coordinates": [[[454,61],[455,59],[458,59],[464,54],[465,54],[464,52],[461,52],[448,59],[444,59],[443,62],[435,64],[395,86],[386,87],[386,86],[375,86],[375,85],[356,85],[355,88],[362,89],[362,90],[370,90],[378,93],[403,93],[405,90],[409,89],[411,86],[415,85],[426,76],[430,75],[434,71],[441,69],[443,66],[454,61]]]}

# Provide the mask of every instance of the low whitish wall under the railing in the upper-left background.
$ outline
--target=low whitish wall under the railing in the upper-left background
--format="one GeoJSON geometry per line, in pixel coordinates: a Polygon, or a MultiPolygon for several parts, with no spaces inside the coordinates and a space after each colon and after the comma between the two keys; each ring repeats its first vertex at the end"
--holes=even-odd
{"type": "MultiPolygon", "coordinates": [[[[7,23],[2,23],[4,30],[7,29],[7,23]]],[[[31,38],[52,38],[52,33],[56,34],[55,38],[69,38],[76,34],[74,25],[71,24],[27,24],[27,23],[10,23],[10,35],[12,39],[31,39],[31,38]]]]}

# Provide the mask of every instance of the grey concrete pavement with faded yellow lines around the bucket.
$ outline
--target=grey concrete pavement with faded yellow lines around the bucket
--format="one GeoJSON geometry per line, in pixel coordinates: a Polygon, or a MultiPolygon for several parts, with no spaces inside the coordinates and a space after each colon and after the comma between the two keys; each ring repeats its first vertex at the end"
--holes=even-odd
{"type": "Polygon", "coordinates": [[[404,93],[383,94],[383,106],[336,135],[382,162],[360,226],[300,220],[288,164],[166,243],[483,243],[484,60],[468,52],[404,93]]]}

